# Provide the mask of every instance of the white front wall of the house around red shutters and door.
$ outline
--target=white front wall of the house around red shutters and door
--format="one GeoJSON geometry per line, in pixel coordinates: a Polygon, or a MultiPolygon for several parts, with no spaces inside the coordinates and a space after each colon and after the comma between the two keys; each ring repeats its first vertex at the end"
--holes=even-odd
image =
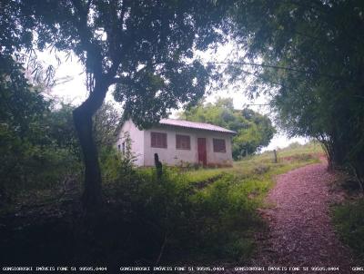
{"type": "Polygon", "coordinates": [[[158,153],[159,161],[167,165],[179,165],[182,161],[196,163],[198,160],[197,138],[207,139],[207,165],[232,165],[231,137],[231,134],[223,132],[184,129],[179,127],[156,127],[144,132],[144,165],[152,166],[155,164],[154,153],[158,153]],[[167,133],[167,149],[151,147],[150,132],[167,133]],[[176,149],[176,134],[190,136],[190,150],[176,149]],[[213,138],[225,139],[226,152],[214,152],[213,138]]]}

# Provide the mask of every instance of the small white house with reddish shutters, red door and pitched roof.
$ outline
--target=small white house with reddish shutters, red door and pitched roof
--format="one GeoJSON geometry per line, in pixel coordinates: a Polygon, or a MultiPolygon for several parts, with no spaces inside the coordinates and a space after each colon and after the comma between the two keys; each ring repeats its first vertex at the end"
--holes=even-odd
{"type": "Polygon", "coordinates": [[[136,165],[153,166],[154,154],[167,165],[199,163],[204,166],[231,166],[231,138],[236,132],[203,122],[162,119],[147,130],[139,130],[134,122],[124,122],[116,147],[126,151],[126,132],[136,165]]]}

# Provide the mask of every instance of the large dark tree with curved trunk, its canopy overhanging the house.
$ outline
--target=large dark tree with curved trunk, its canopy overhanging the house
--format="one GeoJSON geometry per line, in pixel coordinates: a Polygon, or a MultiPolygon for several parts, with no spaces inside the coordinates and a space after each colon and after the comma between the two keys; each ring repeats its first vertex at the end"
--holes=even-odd
{"type": "Polygon", "coordinates": [[[157,122],[167,110],[195,102],[205,91],[208,69],[194,59],[221,40],[223,5],[213,1],[23,1],[35,19],[40,49],[50,44],[76,54],[87,73],[89,96],[74,111],[85,161],[86,209],[101,203],[101,175],[92,117],[110,86],[116,101],[139,126],[157,122]]]}

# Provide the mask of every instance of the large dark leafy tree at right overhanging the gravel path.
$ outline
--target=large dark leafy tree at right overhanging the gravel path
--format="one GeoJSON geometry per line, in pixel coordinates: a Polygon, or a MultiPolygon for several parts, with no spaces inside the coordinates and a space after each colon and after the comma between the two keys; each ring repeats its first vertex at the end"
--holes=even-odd
{"type": "Polygon", "coordinates": [[[255,75],[281,127],[323,142],[330,167],[364,170],[363,2],[242,0],[230,12],[247,51],[233,76],[255,75]]]}

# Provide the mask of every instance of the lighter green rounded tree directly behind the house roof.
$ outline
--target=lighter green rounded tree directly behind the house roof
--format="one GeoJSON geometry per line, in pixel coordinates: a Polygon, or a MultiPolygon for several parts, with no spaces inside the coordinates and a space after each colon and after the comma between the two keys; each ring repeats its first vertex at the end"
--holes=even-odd
{"type": "Polygon", "coordinates": [[[249,109],[235,110],[232,98],[218,98],[216,103],[199,103],[180,113],[181,119],[208,122],[238,134],[233,138],[233,158],[239,159],[267,146],[276,132],[266,115],[249,109]]]}

